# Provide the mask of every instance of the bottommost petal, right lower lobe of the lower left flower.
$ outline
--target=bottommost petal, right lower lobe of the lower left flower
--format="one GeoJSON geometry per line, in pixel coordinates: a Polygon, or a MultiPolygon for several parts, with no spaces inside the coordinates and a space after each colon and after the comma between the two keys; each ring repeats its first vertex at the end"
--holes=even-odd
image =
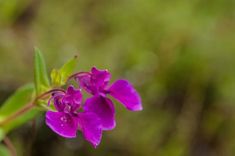
{"type": "Polygon", "coordinates": [[[99,118],[92,112],[80,113],[78,118],[84,138],[96,148],[100,144],[102,137],[99,118]]]}

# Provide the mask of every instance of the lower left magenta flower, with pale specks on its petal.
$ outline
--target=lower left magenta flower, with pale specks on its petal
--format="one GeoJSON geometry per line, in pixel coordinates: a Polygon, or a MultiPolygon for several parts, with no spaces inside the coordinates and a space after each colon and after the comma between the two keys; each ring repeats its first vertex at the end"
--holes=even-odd
{"type": "Polygon", "coordinates": [[[96,147],[101,140],[102,129],[100,118],[93,112],[79,112],[82,107],[80,90],[69,86],[66,92],[54,92],[53,101],[56,111],[47,111],[46,124],[57,134],[66,138],[76,137],[77,131],[96,147]]]}

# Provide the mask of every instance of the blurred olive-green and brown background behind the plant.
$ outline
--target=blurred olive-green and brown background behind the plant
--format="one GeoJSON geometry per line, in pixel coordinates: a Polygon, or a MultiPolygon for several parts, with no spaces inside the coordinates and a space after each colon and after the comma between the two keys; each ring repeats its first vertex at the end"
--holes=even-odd
{"type": "Polygon", "coordinates": [[[116,103],[117,127],[93,149],[44,116],[12,131],[19,156],[235,155],[234,0],[0,0],[0,100],[33,80],[33,47],[49,67],[107,68],[140,92],[116,103]]]}

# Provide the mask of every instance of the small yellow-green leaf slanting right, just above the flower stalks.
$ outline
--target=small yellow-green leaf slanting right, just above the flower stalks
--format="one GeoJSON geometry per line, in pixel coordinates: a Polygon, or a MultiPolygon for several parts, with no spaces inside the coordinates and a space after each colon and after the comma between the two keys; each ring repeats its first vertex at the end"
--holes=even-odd
{"type": "Polygon", "coordinates": [[[77,65],[77,57],[69,60],[59,70],[53,69],[51,71],[51,81],[54,86],[64,85],[68,77],[74,72],[77,65]]]}

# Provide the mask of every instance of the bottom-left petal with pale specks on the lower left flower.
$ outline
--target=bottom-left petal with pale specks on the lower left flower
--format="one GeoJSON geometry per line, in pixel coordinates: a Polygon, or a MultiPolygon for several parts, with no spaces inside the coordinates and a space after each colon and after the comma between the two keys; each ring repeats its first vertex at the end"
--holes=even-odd
{"type": "Polygon", "coordinates": [[[78,118],[72,117],[69,114],[48,111],[46,113],[46,124],[60,136],[66,138],[76,137],[78,118]]]}

